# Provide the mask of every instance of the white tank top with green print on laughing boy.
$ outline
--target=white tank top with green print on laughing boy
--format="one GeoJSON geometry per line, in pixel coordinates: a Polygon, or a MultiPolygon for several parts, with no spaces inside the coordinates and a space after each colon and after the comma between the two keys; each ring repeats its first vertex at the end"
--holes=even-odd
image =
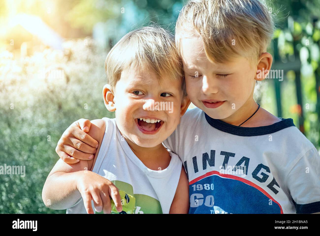
{"type": "MultiPolygon", "coordinates": [[[[182,162],[178,155],[169,151],[169,166],[163,170],[151,170],[121,136],[116,119],[102,119],[106,122],[106,131],[92,172],[134,196],[135,214],[168,214],[181,173],[182,162]]],[[[95,211],[93,201],[92,209],[95,211]]],[[[82,198],[67,209],[67,214],[73,213],[86,214],[82,198]]]]}

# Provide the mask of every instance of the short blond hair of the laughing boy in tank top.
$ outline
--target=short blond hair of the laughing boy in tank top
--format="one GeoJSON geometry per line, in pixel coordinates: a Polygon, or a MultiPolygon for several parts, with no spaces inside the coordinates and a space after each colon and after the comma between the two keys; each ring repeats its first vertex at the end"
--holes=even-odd
{"type": "MultiPolygon", "coordinates": [[[[109,51],[105,61],[108,84],[114,88],[122,71],[132,66],[151,70],[160,83],[164,76],[181,79],[182,61],[174,35],[158,26],[142,27],[124,35],[109,51]]],[[[185,95],[184,80],[181,87],[185,95]]]]}

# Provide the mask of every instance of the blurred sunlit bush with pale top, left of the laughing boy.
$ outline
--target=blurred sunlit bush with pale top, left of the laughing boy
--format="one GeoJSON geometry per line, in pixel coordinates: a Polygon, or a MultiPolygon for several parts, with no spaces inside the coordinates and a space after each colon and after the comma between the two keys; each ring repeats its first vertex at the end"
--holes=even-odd
{"type": "Polygon", "coordinates": [[[81,117],[114,117],[103,103],[106,52],[92,40],[68,41],[65,53],[45,50],[15,65],[0,54],[0,165],[25,166],[25,177],[0,176],[0,213],[65,213],[46,208],[41,192],[59,156],[55,147],[63,131],[81,117]],[[44,73],[41,70],[45,68],[44,73]],[[64,76],[50,79],[63,70],[64,76]],[[13,109],[12,109],[13,108],[13,109]]]}

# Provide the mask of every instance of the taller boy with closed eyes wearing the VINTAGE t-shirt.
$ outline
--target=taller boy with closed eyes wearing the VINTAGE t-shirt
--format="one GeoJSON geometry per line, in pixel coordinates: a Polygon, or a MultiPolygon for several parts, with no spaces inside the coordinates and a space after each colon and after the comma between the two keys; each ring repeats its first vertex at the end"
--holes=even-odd
{"type": "Polygon", "coordinates": [[[164,144],[187,172],[189,213],[320,212],[319,153],[291,118],[253,99],[271,68],[273,30],[258,0],[190,0],[179,14],[176,45],[197,108],[164,144]]]}

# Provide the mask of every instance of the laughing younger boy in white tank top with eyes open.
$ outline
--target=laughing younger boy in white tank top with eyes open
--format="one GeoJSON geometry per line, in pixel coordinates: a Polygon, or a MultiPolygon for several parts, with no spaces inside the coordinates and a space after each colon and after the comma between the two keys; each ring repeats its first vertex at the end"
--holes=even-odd
{"type": "Polygon", "coordinates": [[[110,213],[111,197],[122,212],[122,190],[135,198],[135,214],[188,213],[182,162],[162,144],[190,103],[172,35],[160,27],[128,33],[108,53],[106,74],[103,99],[116,118],[91,122],[88,134],[99,142],[93,159],[56,163],[44,184],[45,205],[110,213]],[[154,110],[155,101],[172,107],[154,110]]]}

